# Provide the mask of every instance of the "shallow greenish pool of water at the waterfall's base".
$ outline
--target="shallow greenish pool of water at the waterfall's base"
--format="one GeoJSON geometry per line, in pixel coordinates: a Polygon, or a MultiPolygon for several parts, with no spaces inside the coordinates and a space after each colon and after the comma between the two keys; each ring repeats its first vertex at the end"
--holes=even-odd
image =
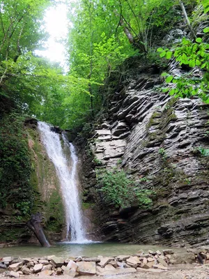
{"type": "MultiPolygon", "coordinates": [[[[58,257],[70,256],[87,256],[95,257],[114,256],[114,255],[130,255],[137,253],[139,250],[160,250],[167,249],[162,246],[141,246],[127,243],[57,243],[53,247],[42,248],[40,246],[15,246],[10,248],[1,248],[0,257],[44,257],[47,255],[56,255],[58,257]]],[[[173,250],[183,251],[183,248],[172,248],[173,250]]]]}

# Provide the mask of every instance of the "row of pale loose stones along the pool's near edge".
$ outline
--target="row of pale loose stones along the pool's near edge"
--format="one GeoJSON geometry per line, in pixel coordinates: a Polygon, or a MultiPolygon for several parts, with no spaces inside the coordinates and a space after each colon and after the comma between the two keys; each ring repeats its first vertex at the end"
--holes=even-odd
{"type": "Polygon", "coordinates": [[[19,278],[39,274],[40,276],[75,276],[84,275],[122,275],[141,271],[167,271],[169,264],[203,263],[209,260],[208,251],[187,250],[173,253],[173,250],[157,250],[153,252],[139,251],[134,255],[118,255],[114,257],[56,257],[54,255],[36,258],[3,257],[0,259],[0,273],[5,276],[19,278]]]}

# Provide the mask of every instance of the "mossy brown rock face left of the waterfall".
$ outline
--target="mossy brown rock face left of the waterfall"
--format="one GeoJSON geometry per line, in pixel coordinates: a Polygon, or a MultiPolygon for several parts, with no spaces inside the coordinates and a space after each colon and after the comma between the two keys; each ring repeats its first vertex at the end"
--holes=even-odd
{"type": "MultiPolygon", "coordinates": [[[[21,195],[17,195],[17,187],[22,192],[27,191],[29,193],[29,199],[32,201],[31,213],[42,213],[42,224],[52,243],[63,239],[62,234],[65,230],[65,213],[59,180],[56,177],[54,165],[49,160],[45,148],[40,142],[36,119],[26,119],[23,130],[26,144],[28,142],[27,156],[31,164],[31,177],[28,185],[30,188],[21,188],[22,182],[14,181],[13,185],[10,186],[13,188],[13,192],[10,193],[7,203],[4,206],[0,203],[0,247],[13,246],[19,243],[38,243],[33,232],[26,227],[30,214],[28,210],[26,211],[28,208],[21,203],[21,195]],[[15,206],[18,204],[20,206],[15,206]]],[[[10,130],[10,134],[13,134],[13,130],[10,130]]],[[[22,138],[17,136],[15,140],[21,141],[22,138]]],[[[10,146],[11,149],[12,147],[10,146]]]]}

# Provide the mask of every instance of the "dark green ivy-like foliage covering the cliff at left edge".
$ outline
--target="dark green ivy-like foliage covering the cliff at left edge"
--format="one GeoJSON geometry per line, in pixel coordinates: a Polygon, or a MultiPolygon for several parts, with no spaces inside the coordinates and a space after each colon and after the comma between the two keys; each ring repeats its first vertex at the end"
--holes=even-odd
{"type": "Polygon", "coordinates": [[[29,215],[33,206],[31,160],[24,118],[15,112],[0,121],[0,208],[8,204],[29,215]]]}

